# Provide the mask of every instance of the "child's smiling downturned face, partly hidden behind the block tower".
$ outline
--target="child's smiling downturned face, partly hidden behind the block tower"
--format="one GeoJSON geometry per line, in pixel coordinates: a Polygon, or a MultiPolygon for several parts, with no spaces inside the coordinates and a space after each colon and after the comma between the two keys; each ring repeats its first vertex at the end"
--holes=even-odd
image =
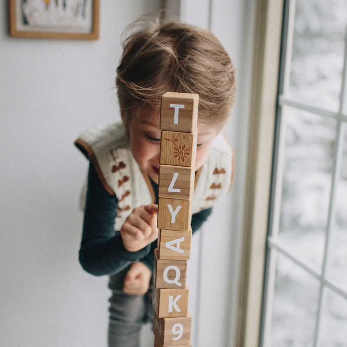
{"type": "MultiPolygon", "coordinates": [[[[143,107],[136,119],[130,121],[128,131],[132,155],[140,166],[154,182],[158,184],[159,177],[159,151],[160,151],[160,112],[153,107],[143,107]]],[[[205,162],[213,138],[218,130],[211,126],[198,123],[198,141],[196,150],[196,166],[198,170],[205,162]]]]}

